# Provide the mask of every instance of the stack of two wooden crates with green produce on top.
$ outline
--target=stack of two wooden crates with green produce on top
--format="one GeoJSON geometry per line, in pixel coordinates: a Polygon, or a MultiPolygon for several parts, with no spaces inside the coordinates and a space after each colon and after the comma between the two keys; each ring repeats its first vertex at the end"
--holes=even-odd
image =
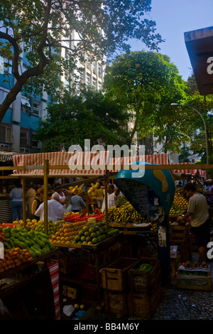
{"type": "Polygon", "coordinates": [[[129,270],[129,316],[152,318],[160,303],[161,281],[158,259],[143,258],[129,270]],[[151,271],[138,269],[140,264],[151,264],[151,271]]]}

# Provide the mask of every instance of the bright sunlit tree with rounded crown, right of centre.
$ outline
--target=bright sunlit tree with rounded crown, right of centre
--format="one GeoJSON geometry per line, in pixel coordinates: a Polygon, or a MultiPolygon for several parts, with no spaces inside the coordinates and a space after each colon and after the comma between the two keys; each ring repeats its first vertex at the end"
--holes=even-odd
{"type": "Polygon", "coordinates": [[[186,86],[167,55],[153,51],[119,55],[107,68],[104,90],[133,112],[130,141],[137,132],[139,139],[155,136],[165,141],[165,151],[180,147],[185,131],[170,104],[185,97],[186,86]]]}

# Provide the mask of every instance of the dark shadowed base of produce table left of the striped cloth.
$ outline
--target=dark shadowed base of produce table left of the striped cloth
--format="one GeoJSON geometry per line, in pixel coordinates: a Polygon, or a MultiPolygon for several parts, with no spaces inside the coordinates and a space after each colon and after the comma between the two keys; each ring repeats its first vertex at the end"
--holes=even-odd
{"type": "Polygon", "coordinates": [[[46,320],[55,318],[53,286],[48,266],[56,259],[58,249],[0,274],[0,298],[9,313],[1,310],[3,319],[27,320],[36,316],[46,320]],[[36,309],[40,309],[40,315],[35,314],[36,309]]]}

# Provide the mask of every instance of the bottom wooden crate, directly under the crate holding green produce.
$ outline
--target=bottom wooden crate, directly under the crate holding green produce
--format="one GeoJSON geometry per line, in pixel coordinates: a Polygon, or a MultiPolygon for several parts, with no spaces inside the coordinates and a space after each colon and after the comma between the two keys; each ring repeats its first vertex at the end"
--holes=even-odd
{"type": "Polygon", "coordinates": [[[162,296],[161,284],[153,293],[129,293],[128,310],[129,316],[151,319],[160,303],[162,296]]]}

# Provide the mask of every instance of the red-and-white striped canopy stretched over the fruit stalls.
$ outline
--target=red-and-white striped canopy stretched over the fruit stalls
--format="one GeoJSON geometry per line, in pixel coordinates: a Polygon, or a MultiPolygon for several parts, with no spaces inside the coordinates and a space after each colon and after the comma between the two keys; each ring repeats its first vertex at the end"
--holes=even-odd
{"type": "MultiPolygon", "coordinates": [[[[20,176],[43,176],[44,161],[49,161],[49,166],[65,166],[65,168],[50,168],[50,176],[103,176],[107,173],[106,165],[109,161],[109,171],[118,172],[119,166],[125,166],[136,161],[146,161],[148,163],[158,163],[160,165],[169,164],[168,153],[148,154],[141,156],[127,156],[122,158],[109,158],[109,151],[75,151],[75,152],[49,152],[34,154],[18,154],[13,156],[13,174],[20,176]],[[16,166],[26,166],[25,169],[16,169],[16,166]],[[36,168],[37,166],[37,168],[36,168]],[[111,167],[114,166],[113,169],[111,167]]],[[[174,169],[175,173],[191,173],[195,175],[197,169],[174,169]]],[[[177,163],[175,163],[177,165],[177,163]]],[[[108,166],[107,166],[108,167],[108,166]]],[[[205,176],[205,171],[200,171],[201,176],[205,176]]]]}

